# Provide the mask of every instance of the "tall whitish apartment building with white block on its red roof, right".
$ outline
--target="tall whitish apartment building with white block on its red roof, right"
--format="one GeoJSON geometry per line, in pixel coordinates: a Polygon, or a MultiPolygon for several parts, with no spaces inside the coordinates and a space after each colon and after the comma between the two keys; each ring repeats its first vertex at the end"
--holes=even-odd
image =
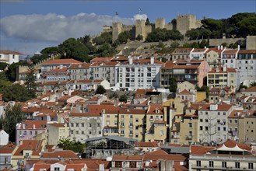
{"type": "Polygon", "coordinates": [[[198,110],[198,134],[201,142],[222,143],[228,138],[228,116],[233,105],[224,102],[205,104],[198,110]]]}

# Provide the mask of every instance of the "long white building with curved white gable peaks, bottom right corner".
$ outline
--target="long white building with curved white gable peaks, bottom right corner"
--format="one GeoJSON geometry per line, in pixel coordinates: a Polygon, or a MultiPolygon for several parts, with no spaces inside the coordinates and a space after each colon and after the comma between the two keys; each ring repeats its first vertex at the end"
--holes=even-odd
{"type": "Polygon", "coordinates": [[[227,140],[217,147],[191,146],[189,170],[254,170],[256,156],[249,145],[227,140]]]}

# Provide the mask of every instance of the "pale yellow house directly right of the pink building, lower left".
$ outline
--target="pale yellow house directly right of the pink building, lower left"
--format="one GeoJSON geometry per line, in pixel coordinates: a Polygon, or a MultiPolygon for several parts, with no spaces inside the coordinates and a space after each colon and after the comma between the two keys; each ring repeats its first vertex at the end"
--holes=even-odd
{"type": "Polygon", "coordinates": [[[47,124],[48,145],[58,145],[63,138],[69,137],[69,127],[66,124],[47,124]]]}

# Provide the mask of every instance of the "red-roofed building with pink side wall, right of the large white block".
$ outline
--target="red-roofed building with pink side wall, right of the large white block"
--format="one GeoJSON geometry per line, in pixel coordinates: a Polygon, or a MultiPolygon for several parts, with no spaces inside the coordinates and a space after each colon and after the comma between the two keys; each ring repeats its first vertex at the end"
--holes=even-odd
{"type": "Polygon", "coordinates": [[[161,87],[169,89],[171,78],[176,82],[188,81],[202,87],[209,70],[209,64],[205,60],[167,61],[160,73],[161,87]]]}

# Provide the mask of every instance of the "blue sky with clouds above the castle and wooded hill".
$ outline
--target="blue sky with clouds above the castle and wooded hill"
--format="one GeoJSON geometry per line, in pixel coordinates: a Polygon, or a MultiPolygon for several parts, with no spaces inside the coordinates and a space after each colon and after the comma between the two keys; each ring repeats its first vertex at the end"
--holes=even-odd
{"type": "Polygon", "coordinates": [[[0,0],[0,49],[31,54],[68,37],[100,33],[114,21],[132,24],[139,17],[166,23],[178,14],[223,19],[237,12],[256,12],[256,0],[241,1],[68,1],[0,0]],[[115,16],[114,13],[119,15],[115,16]],[[26,44],[25,44],[26,41],[26,44]]]}

